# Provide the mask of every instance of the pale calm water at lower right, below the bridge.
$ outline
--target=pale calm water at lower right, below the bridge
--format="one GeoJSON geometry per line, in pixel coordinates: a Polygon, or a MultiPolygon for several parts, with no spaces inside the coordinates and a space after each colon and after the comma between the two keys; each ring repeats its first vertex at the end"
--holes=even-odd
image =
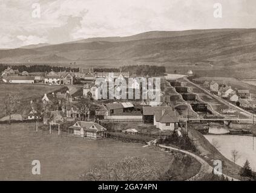
{"type": "Polygon", "coordinates": [[[218,143],[218,151],[227,159],[232,160],[231,151],[237,150],[240,158],[237,164],[243,166],[246,159],[251,163],[251,168],[256,171],[256,138],[254,142],[251,136],[239,135],[205,135],[205,138],[212,144],[212,139],[218,143]],[[254,150],[252,149],[254,144],[254,150]]]}

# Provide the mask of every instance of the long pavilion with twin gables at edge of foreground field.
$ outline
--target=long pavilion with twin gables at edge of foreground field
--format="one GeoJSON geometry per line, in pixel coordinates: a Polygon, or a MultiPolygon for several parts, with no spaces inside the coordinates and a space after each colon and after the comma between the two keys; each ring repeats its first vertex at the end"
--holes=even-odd
{"type": "Polygon", "coordinates": [[[107,129],[95,122],[77,121],[73,126],[68,127],[75,136],[88,139],[100,139],[107,137],[107,129]]]}

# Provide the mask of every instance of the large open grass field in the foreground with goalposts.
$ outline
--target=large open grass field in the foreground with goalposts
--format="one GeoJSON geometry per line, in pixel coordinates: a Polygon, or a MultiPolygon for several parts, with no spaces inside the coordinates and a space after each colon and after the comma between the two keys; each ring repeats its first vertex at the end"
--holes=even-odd
{"type": "MultiPolygon", "coordinates": [[[[163,168],[173,158],[156,147],[143,148],[142,144],[113,139],[88,141],[66,133],[57,136],[57,131],[51,135],[41,130],[36,133],[33,123],[0,125],[0,131],[0,180],[79,180],[79,174],[88,169],[126,156],[145,157],[163,168]],[[31,174],[32,160],[41,162],[41,175],[31,174]]],[[[192,164],[196,169],[189,176],[197,173],[198,164],[192,164]]]]}

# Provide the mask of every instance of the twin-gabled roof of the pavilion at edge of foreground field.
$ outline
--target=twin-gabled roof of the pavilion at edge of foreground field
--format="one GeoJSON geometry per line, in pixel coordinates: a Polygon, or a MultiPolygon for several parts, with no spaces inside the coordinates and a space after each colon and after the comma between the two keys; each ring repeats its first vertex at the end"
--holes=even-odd
{"type": "Polygon", "coordinates": [[[70,128],[83,128],[85,131],[107,131],[107,128],[102,127],[102,125],[97,124],[96,122],[87,122],[87,121],[77,121],[76,124],[70,128]]]}

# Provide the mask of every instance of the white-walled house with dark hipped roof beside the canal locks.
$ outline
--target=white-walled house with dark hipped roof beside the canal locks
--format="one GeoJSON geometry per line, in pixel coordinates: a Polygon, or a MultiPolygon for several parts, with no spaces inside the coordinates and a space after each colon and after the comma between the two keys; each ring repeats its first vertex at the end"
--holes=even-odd
{"type": "Polygon", "coordinates": [[[160,130],[174,131],[175,125],[179,122],[179,116],[175,110],[156,110],[154,111],[154,125],[160,130]]]}

